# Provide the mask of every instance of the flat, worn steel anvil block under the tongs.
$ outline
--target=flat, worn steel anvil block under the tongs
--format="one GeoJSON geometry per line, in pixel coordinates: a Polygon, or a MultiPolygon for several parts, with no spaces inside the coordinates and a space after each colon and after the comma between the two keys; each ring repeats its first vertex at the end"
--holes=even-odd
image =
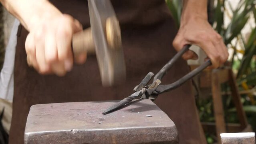
{"type": "Polygon", "coordinates": [[[177,144],[173,121],[151,100],[110,114],[118,101],[38,104],[30,108],[25,144],[177,144]]]}

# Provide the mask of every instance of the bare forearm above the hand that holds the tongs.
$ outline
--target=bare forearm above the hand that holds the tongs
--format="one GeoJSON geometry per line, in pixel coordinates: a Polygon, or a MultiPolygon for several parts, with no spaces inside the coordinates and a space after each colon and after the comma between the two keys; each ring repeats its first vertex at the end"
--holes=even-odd
{"type": "Polygon", "coordinates": [[[181,24],[191,18],[204,18],[207,20],[207,0],[183,0],[181,24]]]}

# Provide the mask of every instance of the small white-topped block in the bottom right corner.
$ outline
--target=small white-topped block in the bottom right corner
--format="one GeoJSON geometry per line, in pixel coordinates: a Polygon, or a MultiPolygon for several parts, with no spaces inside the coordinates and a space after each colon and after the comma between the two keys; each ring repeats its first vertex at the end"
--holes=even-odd
{"type": "Polygon", "coordinates": [[[256,144],[254,132],[220,134],[222,144],[256,144]]]}

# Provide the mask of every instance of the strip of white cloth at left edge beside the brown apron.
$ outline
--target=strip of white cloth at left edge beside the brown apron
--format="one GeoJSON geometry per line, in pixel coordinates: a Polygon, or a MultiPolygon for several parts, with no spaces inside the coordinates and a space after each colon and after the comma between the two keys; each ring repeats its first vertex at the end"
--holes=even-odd
{"type": "Polygon", "coordinates": [[[4,65],[0,73],[0,98],[13,99],[14,92],[14,60],[17,44],[17,32],[20,22],[16,19],[12,26],[9,42],[6,46],[4,65]]]}

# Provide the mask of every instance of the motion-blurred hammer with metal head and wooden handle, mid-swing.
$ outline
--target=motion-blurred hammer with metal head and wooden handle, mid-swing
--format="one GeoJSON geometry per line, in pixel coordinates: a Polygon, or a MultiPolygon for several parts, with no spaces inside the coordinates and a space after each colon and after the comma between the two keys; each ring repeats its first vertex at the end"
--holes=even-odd
{"type": "Polygon", "coordinates": [[[96,52],[103,86],[125,80],[121,30],[110,0],[88,0],[91,28],[73,36],[74,56],[96,52]]]}

